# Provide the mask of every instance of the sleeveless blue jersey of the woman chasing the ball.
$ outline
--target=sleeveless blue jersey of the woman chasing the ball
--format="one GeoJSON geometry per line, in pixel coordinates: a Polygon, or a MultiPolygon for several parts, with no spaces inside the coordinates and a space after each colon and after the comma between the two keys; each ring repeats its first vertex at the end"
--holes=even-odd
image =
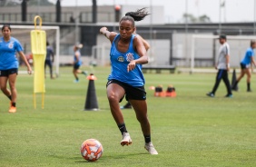
{"type": "Polygon", "coordinates": [[[143,77],[142,64],[136,64],[132,71],[127,72],[127,65],[132,60],[139,59],[140,56],[133,49],[133,39],[135,35],[131,37],[129,48],[125,53],[121,53],[117,49],[117,43],[120,39],[120,34],[115,35],[113,44],[110,50],[110,61],[112,64],[111,74],[108,76],[108,80],[118,80],[123,83],[127,83],[132,86],[143,86],[145,81],[143,77]]]}

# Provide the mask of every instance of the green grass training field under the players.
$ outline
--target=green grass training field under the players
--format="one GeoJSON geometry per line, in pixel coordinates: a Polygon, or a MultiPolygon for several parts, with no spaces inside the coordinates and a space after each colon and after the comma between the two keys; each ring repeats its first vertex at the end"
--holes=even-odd
{"type": "MultiPolygon", "coordinates": [[[[224,98],[224,83],[216,97],[215,74],[144,74],[152,140],[158,155],[143,148],[143,134],[133,110],[123,110],[132,136],[121,146],[119,132],[105,94],[109,67],[95,67],[94,81],[100,111],[84,111],[88,80],[73,83],[72,67],[62,67],[55,80],[46,78],[44,109],[41,94],[33,104],[33,76],[17,77],[17,113],[8,113],[9,101],[0,93],[0,166],[256,166],[256,75],[252,93],[245,78],[233,98],[224,98]],[[173,84],[177,97],[154,97],[150,86],[173,84]],[[103,156],[86,162],[80,153],[84,140],[103,144],[103,156]]],[[[83,67],[84,69],[86,67],[83,67]]],[[[231,78],[231,74],[230,74],[231,78]]],[[[125,102],[121,103],[123,105],[125,102]]]]}

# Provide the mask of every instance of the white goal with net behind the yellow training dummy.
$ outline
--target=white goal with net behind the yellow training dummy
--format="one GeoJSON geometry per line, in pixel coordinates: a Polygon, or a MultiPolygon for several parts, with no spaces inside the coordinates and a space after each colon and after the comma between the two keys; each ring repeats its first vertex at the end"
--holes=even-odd
{"type": "MultiPolygon", "coordinates": [[[[3,25],[0,25],[1,27],[3,25]]],[[[11,25],[11,36],[15,37],[24,47],[25,55],[31,54],[30,32],[34,30],[34,25],[11,25]]],[[[59,76],[60,66],[60,28],[59,26],[42,25],[41,30],[46,33],[46,40],[54,47],[54,74],[59,76]]]]}

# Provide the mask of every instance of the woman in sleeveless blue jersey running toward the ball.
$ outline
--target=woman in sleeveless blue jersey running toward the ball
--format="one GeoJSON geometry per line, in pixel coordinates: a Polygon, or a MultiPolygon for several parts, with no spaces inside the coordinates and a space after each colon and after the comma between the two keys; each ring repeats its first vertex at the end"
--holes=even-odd
{"type": "Polygon", "coordinates": [[[119,107],[125,95],[126,100],[133,105],[137,120],[141,124],[144,148],[150,154],[158,154],[151,142],[151,126],[147,117],[145,81],[142,72],[142,64],[148,63],[148,56],[143,40],[133,34],[134,21],[141,21],[146,15],[148,14],[145,10],[140,9],[133,15],[123,16],[119,22],[119,34],[109,32],[106,27],[102,27],[100,33],[104,34],[112,44],[110,50],[112,70],[108,76],[106,93],[113,119],[123,135],[121,145],[132,144],[119,107]]]}

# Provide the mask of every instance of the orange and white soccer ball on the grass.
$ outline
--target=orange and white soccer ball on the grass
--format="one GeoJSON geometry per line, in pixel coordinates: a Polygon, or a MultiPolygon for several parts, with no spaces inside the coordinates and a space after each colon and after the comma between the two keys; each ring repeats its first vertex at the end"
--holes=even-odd
{"type": "Polygon", "coordinates": [[[87,139],[81,145],[81,154],[88,162],[95,162],[103,155],[103,145],[96,139],[87,139]]]}

